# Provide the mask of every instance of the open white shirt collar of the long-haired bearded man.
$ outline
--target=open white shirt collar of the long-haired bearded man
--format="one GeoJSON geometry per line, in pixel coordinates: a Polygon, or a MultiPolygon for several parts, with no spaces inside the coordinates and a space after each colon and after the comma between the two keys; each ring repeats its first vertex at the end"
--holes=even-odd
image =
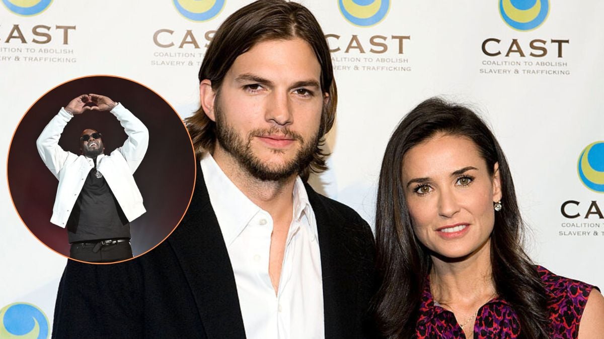
{"type": "MultiPolygon", "coordinates": [[[[228,247],[245,229],[249,221],[263,210],[235,186],[210,153],[205,152],[202,155],[200,165],[210,195],[210,203],[216,214],[222,237],[228,247]]],[[[304,188],[304,183],[299,176],[296,177],[293,194],[292,221],[300,221],[303,217],[306,217],[308,223],[302,224],[307,224],[312,236],[316,238],[314,214],[306,188],[304,188]]]]}

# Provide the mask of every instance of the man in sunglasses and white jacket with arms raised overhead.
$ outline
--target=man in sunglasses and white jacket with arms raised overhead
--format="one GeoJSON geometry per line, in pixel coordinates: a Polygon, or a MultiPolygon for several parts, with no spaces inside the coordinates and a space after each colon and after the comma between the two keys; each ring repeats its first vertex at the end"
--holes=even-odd
{"type": "Polygon", "coordinates": [[[145,212],[143,197],[132,176],[149,144],[149,131],[120,103],[97,94],[83,94],[62,108],[36,141],[48,169],[59,179],[51,223],[65,227],[69,256],[86,262],[132,258],[130,221],[145,212]],[[63,150],[59,139],[76,115],[109,111],[128,136],[124,145],[104,154],[103,135],[86,128],[80,155],[63,150]]]}

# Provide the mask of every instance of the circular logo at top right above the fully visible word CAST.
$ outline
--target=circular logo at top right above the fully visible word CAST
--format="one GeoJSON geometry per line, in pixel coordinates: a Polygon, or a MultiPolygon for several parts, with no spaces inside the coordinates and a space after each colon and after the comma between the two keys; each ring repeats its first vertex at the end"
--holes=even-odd
{"type": "Polygon", "coordinates": [[[550,0],[499,0],[501,18],[518,31],[541,26],[550,13],[550,0]]]}

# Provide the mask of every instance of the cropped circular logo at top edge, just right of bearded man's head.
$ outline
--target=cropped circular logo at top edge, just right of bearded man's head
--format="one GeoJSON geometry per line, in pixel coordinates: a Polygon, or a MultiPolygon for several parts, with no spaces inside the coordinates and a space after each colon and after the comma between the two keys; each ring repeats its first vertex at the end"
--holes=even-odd
{"type": "Polygon", "coordinates": [[[384,20],[390,9],[390,0],[338,0],[338,6],[350,24],[370,27],[384,20]]]}

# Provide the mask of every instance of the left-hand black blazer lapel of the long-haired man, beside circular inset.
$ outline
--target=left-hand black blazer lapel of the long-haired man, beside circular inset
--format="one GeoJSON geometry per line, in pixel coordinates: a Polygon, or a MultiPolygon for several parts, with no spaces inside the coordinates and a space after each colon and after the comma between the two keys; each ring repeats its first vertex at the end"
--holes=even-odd
{"type": "Polygon", "coordinates": [[[189,208],[168,238],[211,338],[245,338],[233,267],[201,166],[189,208]]]}

